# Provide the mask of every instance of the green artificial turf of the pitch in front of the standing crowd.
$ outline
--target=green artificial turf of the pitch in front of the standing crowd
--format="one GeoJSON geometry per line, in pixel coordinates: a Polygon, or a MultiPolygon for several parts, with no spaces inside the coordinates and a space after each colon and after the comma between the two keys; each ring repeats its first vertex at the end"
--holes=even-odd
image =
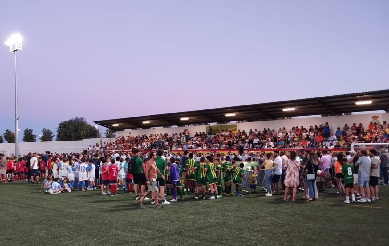
{"type": "MultiPolygon", "coordinates": [[[[234,187],[233,187],[234,190],[234,187]]],[[[259,189],[258,189],[259,190],[259,189]]],[[[389,187],[380,200],[344,204],[336,189],[306,202],[265,192],[140,207],[134,194],[50,195],[39,185],[0,184],[0,245],[386,245],[389,187]]],[[[171,199],[171,196],[167,196],[171,199]]]]}

